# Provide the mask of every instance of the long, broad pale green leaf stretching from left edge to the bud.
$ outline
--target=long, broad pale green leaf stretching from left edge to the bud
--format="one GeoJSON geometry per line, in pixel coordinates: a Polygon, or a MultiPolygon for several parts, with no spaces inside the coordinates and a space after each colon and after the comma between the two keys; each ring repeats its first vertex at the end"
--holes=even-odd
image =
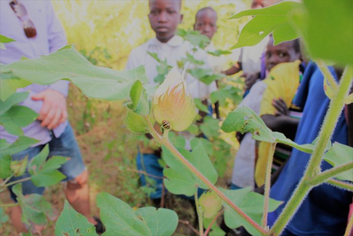
{"type": "Polygon", "coordinates": [[[128,99],[136,80],[148,82],[143,66],[128,71],[93,66],[73,47],[48,56],[2,65],[1,73],[6,72],[38,84],[69,79],[88,97],[106,100],[128,99]]]}

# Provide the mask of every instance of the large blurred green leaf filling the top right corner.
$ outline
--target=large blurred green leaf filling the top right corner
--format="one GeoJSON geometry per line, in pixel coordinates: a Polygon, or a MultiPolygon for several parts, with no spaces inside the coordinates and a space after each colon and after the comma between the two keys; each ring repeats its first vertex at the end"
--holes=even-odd
{"type": "Polygon", "coordinates": [[[311,57],[352,65],[353,2],[305,0],[301,6],[290,19],[303,36],[311,57]]]}

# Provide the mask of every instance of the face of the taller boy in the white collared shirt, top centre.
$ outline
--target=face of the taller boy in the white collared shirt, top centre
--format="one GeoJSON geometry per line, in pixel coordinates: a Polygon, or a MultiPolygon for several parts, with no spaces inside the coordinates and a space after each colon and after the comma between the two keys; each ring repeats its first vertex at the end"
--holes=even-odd
{"type": "Polygon", "coordinates": [[[167,42],[175,34],[178,24],[182,21],[180,1],[150,0],[148,18],[156,37],[161,42],[167,42]]]}

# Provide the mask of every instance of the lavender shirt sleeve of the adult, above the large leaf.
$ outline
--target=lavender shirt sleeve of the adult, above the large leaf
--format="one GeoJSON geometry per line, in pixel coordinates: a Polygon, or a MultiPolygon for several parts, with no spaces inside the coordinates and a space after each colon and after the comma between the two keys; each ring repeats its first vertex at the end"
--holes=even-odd
{"type": "Polygon", "coordinates": [[[64,28],[57,19],[51,2],[47,1],[46,3],[49,52],[53,53],[67,45],[68,41],[66,39],[64,28]]]}

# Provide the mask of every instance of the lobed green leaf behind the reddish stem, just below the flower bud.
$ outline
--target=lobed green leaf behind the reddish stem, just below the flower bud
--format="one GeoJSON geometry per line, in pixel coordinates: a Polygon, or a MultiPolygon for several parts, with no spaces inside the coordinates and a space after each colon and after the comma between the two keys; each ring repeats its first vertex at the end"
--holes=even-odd
{"type": "MultiPolygon", "coordinates": [[[[193,166],[198,169],[212,183],[217,181],[218,175],[214,169],[202,143],[199,143],[192,152],[183,148],[178,148],[178,151],[190,161],[193,166]]],[[[174,157],[165,147],[162,147],[162,158],[168,165],[168,168],[163,170],[166,176],[164,184],[167,190],[173,194],[185,194],[193,196],[197,187],[208,189],[208,187],[199,180],[189,169],[174,157]]]]}

